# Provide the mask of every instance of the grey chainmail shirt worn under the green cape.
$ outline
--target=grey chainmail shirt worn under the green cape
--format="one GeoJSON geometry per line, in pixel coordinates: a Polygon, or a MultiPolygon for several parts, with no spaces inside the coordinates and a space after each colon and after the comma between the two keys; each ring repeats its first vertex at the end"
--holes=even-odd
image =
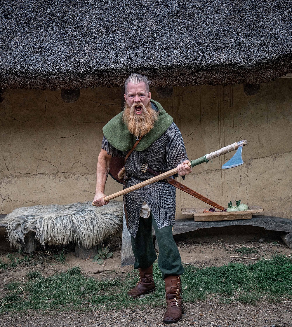
{"type": "MultiPolygon", "coordinates": [[[[122,156],[122,152],[113,147],[103,137],[102,149],[112,157],[122,156]]],[[[188,159],[182,135],[178,127],[172,123],[151,146],[143,151],[134,150],[125,163],[127,174],[131,179],[126,181],[126,187],[148,180],[154,175],[141,172],[143,163],[156,171],[168,171],[176,168],[180,163],[188,159]]],[[[140,210],[145,201],[151,209],[152,216],[158,228],[174,224],[175,218],[175,187],[164,181],[158,181],[124,195],[125,206],[128,215],[128,229],[133,237],[136,236],[139,227],[140,210]]]]}

